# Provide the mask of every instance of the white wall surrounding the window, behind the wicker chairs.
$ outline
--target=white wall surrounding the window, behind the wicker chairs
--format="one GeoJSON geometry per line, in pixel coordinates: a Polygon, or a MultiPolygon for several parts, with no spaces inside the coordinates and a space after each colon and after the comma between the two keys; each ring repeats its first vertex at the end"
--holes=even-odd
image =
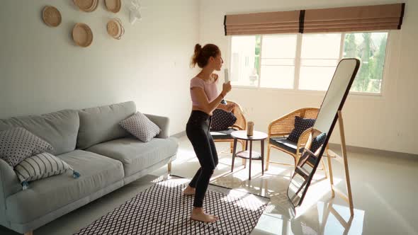
{"type": "MultiPolygon", "coordinates": [[[[212,42],[223,51],[225,64],[230,37],[224,35],[225,13],[291,11],[307,8],[363,6],[405,2],[402,30],[393,30],[388,42],[383,96],[349,95],[343,109],[346,142],[351,146],[418,154],[418,1],[378,0],[200,0],[200,42],[212,42]]],[[[222,76],[222,73],[221,73],[222,76]]],[[[291,110],[319,107],[324,93],[232,88],[227,98],[240,103],[256,129],[266,131],[271,120],[291,110]]],[[[334,132],[332,143],[339,143],[334,132]]]]}

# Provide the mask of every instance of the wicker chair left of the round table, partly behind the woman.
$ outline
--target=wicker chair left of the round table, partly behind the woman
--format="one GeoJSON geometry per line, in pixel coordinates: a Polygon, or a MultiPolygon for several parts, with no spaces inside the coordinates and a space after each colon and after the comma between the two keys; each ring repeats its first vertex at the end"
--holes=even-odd
{"type": "MultiPolygon", "coordinates": [[[[233,101],[227,101],[227,103],[235,103],[233,101]]],[[[234,149],[234,138],[231,137],[231,132],[234,132],[236,130],[246,130],[247,129],[247,120],[244,117],[244,114],[242,113],[242,108],[239,104],[235,103],[237,106],[232,110],[232,113],[234,113],[235,117],[237,117],[237,121],[235,121],[234,125],[232,127],[228,128],[228,130],[222,130],[222,131],[216,131],[222,133],[222,135],[219,134],[212,134],[213,141],[214,142],[230,142],[230,151],[232,153],[234,149]]],[[[245,141],[244,140],[238,140],[239,143],[241,143],[242,150],[245,149],[245,141]]]]}

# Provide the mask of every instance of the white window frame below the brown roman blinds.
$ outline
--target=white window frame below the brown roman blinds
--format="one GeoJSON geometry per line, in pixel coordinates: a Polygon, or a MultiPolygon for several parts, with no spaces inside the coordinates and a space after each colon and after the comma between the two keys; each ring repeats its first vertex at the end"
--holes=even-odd
{"type": "MultiPolygon", "coordinates": [[[[380,84],[380,92],[379,93],[373,93],[373,92],[364,92],[364,91],[349,91],[350,94],[356,95],[356,96],[383,96],[383,93],[385,91],[385,80],[386,80],[386,74],[388,73],[388,67],[386,66],[386,62],[388,62],[388,55],[390,54],[390,35],[392,30],[370,30],[370,31],[354,31],[354,32],[341,32],[341,42],[339,47],[339,61],[343,59],[343,52],[344,52],[344,38],[346,33],[388,33],[388,38],[386,39],[386,48],[385,48],[385,64],[383,64],[383,72],[382,72],[382,82],[380,84]]],[[[338,32],[334,32],[338,33],[338,32]]],[[[305,34],[318,34],[318,33],[305,33],[305,34]]],[[[323,34],[332,34],[332,33],[323,33],[323,34]]],[[[276,35],[283,35],[283,34],[276,34],[276,35]]],[[[298,88],[299,81],[300,81],[300,64],[301,64],[301,55],[302,55],[302,40],[303,40],[303,34],[302,33],[286,33],[286,35],[297,35],[296,37],[296,51],[295,51],[295,77],[293,79],[293,88],[271,88],[271,87],[261,87],[261,79],[262,79],[262,72],[260,69],[259,74],[259,81],[256,86],[242,86],[242,85],[234,85],[236,88],[248,88],[248,89],[257,89],[257,90],[270,90],[270,91],[287,91],[290,93],[307,93],[307,94],[324,94],[327,91],[318,91],[318,90],[305,90],[298,88]]],[[[228,46],[228,52],[229,52],[229,60],[228,60],[228,67],[231,67],[231,50],[232,50],[232,37],[239,37],[240,35],[232,35],[229,36],[229,46],[228,46]]],[[[259,35],[261,37],[261,43],[260,43],[260,59],[259,59],[259,67],[261,68],[261,53],[263,50],[263,36],[259,35]]]]}

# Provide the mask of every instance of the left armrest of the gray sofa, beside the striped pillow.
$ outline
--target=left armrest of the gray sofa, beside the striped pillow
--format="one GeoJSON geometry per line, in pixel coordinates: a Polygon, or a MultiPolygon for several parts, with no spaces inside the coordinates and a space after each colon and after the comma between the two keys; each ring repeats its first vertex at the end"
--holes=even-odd
{"type": "MultiPolygon", "coordinates": [[[[0,218],[6,219],[6,198],[22,190],[13,168],[0,159],[0,218]]],[[[1,221],[0,219],[0,221],[1,221]]]]}

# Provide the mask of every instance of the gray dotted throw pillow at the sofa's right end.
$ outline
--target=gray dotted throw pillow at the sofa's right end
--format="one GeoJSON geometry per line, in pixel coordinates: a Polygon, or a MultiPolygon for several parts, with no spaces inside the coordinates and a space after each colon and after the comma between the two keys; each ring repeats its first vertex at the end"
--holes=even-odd
{"type": "Polygon", "coordinates": [[[154,122],[140,112],[119,122],[119,125],[142,142],[149,142],[161,131],[154,122]]]}

